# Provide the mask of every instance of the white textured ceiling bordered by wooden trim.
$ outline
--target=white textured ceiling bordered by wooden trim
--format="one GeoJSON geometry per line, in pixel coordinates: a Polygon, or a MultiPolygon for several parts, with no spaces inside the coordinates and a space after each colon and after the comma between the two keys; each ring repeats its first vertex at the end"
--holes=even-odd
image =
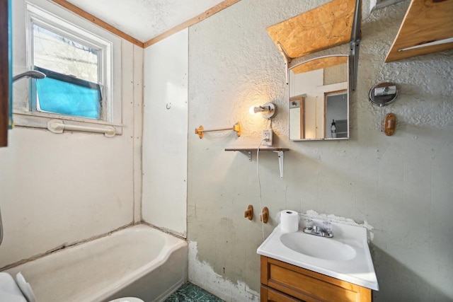
{"type": "Polygon", "coordinates": [[[141,42],[204,13],[223,0],[67,0],[141,42]]]}

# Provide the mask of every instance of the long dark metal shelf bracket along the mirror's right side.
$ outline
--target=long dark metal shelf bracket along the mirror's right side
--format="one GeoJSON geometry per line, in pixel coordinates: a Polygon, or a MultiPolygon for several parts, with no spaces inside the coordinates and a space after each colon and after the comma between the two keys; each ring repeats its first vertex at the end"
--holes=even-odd
{"type": "Polygon", "coordinates": [[[351,40],[349,42],[349,83],[350,91],[357,86],[357,68],[359,66],[360,27],[362,24],[362,0],[355,1],[354,20],[352,23],[351,40]]]}

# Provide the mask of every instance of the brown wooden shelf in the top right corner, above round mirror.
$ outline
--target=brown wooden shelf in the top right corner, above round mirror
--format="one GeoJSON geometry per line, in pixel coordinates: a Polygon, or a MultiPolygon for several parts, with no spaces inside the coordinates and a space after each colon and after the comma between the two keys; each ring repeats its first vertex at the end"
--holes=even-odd
{"type": "Polygon", "coordinates": [[[453,37],[453,1],[412,0],[385,62],[452,50],[453,42],[404,50],[453,37]]]}

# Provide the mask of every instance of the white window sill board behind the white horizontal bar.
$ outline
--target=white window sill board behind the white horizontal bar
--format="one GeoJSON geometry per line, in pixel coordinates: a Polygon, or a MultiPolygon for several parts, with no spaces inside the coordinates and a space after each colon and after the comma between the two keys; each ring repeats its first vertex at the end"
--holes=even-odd
{"type": "Polygon", "coordinates": [[[45,112],[13,110],[13,122],[15,127],[47,129],[47,122],[50,122],[50,120],[62,120],[64,121],[64,124],[84,127],[98,127],[101,129],[106,126],[110,126],[115,128],[116,135],[122,134],[122,124],[86,119],[84,117],[71,117],[69,115],[55,115],[45,112]]]}

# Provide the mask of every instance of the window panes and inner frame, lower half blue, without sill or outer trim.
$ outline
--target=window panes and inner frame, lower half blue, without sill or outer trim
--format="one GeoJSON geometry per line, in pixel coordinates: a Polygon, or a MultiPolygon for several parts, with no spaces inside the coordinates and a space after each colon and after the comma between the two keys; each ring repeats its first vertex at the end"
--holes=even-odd
{"type": "Polygon", "coordinates": [[[45,79],[32,81],[30,110],[109,120],[110,42],[28,5],[30,67],[45,79]]]}

